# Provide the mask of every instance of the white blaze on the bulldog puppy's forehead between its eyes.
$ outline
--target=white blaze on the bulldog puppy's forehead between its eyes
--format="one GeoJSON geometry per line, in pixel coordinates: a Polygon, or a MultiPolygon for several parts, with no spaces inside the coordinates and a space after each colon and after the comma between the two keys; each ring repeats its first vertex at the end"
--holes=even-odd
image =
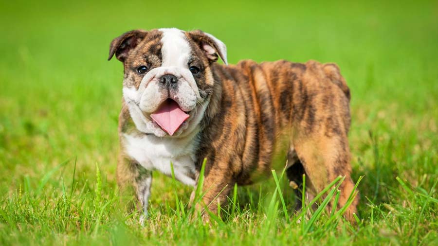
{"type": "Polygon", "coordinates": [[[184,32],[176,28],[162,28],[159,31],[163,33],[161,38],[163,43],[161,48],[163,55],[162,67],[187,68],[191,49],[184,32]]]}

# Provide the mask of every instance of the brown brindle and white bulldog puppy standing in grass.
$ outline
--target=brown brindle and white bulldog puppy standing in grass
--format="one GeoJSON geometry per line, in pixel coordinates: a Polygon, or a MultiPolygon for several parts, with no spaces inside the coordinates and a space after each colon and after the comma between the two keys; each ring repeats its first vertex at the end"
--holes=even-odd
{"type": "MultiPolygon", "coordinates": [[[[287,176],[299,185],[306,174],[313,194],[346,176],[337,206],[346,204],[354,186],[350,92],[335,64],[227,65],[219,39],[175,28],[127,32],[112,40],[109,59],[114,54],[124,66],[117,181],[122,191],[134,188],[145,216],[153,170],[171,176],[172,162],[175,178],[196,186],[204,158],[197,206],[212,212],[235,183],[266,179],[286,162],[287,176]]],[[[347,210],[350,220],[357,202],[347,210]]]]}

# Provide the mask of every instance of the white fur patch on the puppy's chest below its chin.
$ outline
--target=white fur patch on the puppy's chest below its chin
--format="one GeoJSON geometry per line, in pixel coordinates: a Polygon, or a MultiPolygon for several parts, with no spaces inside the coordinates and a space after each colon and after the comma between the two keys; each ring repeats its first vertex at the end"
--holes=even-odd
{"type": "Polygon", "coordinates": [[[151,135],[124,134],[122,147],[129,158],[147,170],[158,170],[172,176],[184,184],[195,186],[195,161],[197,141],[157,138],[151,135]]]}

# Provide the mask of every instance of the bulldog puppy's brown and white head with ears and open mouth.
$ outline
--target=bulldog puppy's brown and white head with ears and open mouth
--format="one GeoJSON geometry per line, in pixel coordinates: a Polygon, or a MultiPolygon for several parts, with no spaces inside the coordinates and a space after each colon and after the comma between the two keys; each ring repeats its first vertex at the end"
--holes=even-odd
{"type": "Polygon", "coordinates": [[[112,40],[110,57],[123,62],[123,97],[138,130],[157,137],[196,129],[215,80],[211,65],[227,64],[226,46],[213,35],[175,28],[134,30],[112,40]]]}

